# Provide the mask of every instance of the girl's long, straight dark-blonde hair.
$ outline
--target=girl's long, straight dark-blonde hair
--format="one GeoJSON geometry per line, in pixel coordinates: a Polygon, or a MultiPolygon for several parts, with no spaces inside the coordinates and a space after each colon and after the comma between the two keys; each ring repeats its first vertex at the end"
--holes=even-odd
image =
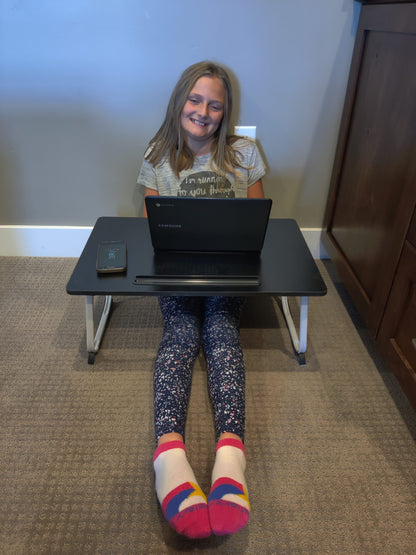
{"type": "Polygon", "coordinates": [[[191,90],[201,77],[217,77],[225,92],[224,114],[213,137],[211,164],[222,174],[226,171],[234,173],[235,168],[242,167],[240,153],[232,148],[237,137],[227,135],[233,103],[230,78],[223,67],[205,61],[191,65],[182,73],[170,97],[165,119],[151,139],[145,154],[145,158],[153,166],[157,166],[168,157],[172,169],[178,176],[182,170],[189,169],[194,164],[194,154],[183,136],[181,113],[191,90]]]}

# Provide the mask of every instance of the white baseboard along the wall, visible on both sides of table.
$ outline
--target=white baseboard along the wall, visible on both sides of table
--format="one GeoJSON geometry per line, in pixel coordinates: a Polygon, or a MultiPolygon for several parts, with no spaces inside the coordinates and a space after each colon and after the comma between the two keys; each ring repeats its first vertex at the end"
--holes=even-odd
{"type": "MultiPolygon", "coordinates": [[[[92,227],[0,225],[0,256],[78,258],[92,227]]],[[[315,259],[328,258],[320,228],[304,228],[303,236],[315,259]]]]}

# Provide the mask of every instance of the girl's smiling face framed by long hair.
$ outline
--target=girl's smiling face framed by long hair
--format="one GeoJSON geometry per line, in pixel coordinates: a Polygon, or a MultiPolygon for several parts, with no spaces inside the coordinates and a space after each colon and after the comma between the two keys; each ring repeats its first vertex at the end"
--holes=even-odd
{"type": "Polygon", "coordinates": [[[181,113],[181,126],[194,154],[208,154],[224,115],[225,91],[218,77],[200,77],[181,113]]]}

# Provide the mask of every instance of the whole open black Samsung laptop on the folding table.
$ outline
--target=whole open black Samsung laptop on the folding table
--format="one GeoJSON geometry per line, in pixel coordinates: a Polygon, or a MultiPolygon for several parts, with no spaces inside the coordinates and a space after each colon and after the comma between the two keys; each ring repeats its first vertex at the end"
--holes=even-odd
{"type": "Polygon", "coordinates": [[[154,248],[141,284],[258,286],[270,199],[145,199],[154,248]]]}

